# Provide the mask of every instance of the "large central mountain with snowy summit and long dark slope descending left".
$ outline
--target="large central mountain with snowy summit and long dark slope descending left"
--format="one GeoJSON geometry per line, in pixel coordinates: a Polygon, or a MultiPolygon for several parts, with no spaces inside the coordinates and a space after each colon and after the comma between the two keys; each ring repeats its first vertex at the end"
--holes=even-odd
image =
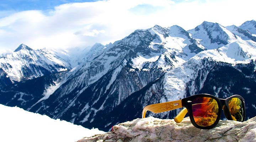
{"type": "Polygon", "coordinates": [[[93,120],[98,111],[112,111],[130,94],[203,50],[178,26],[136,30],[106,48],[95,45],[89,51],[94,54],[88,54],[84,64],[69,72],[6,87],[1,93],[5,97],[1,103],[21,104],[18,106],[32,112],[91,127],[97,123],[93,120]],[[40,87],[24,88],[32,84],[40,87]]]}

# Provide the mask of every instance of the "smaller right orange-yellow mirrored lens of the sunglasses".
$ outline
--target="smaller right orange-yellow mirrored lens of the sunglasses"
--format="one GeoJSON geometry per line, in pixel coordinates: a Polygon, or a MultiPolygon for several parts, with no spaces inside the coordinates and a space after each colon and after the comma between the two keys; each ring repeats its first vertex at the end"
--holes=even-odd
{"type": "Polygon", "coordinates": [[[235,121],[243,120],[243,109],[242,109],[242,101],[239,98],[232,98],[229,100],[229,111],[231,117],[235,121]]]}

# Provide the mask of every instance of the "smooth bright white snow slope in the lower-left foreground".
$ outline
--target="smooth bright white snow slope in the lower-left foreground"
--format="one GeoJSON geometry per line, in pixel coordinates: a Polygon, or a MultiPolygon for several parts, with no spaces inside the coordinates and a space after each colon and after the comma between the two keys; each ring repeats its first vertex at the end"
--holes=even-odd
{"type": "Polygon", "coordinates": [[[105,133],[86,129],[70,122],[54,120],[46,115],[0,104],[0,141],[21,142],[74,142],[83,137],[105,133]]]}

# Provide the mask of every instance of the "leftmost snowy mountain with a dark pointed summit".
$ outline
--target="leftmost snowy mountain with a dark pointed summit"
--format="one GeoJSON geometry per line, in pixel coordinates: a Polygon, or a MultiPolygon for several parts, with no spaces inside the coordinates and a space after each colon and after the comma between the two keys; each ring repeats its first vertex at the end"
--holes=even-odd
{"type": "Polygon", "coordinates": [[[21,44],[13,53],[0,58],[0,87],[69,69],[70,64],[54,51],[33,50],[21,44]]]}

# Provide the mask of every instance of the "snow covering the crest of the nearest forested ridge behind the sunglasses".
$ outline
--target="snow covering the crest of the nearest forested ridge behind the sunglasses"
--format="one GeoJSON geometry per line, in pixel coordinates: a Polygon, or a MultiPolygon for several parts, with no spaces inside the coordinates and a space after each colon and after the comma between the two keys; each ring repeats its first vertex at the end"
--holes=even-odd
{"type": "MultiPolygon", "coordinates": [[[[208,58],[209,60],[217,62],[227,62],[232,65],[243,63],[248,64],[251,59],[256,59],[256,43],[252,40],[239,40],[227,44],[219,49],[206,50],[198,53],[186,62],[175,66],[174,69],[167,71],[164,81],[164,94],[161,98],[161,102],[167,102],[172,100],[179,100],[184,98],[186,94],[186,87],[189,81],[192,84],[189,88],[190,94],[196,92],[194,86],[194,80],[197,77],[198,71],[205,65],[202,65],[202,59],[208,58]],[[167,99],[167,100],[166,100],[167,99]]],[[[208,74],[204,72],[204,74],[208,74]]],[[[199,89],[203,86],[206,77],[202,78],[199,84],[199,89]]],[[[215,88],[215,93],[218,94],[221,88],[215,88]]],[[[244,88],[248,93],[249,91],[244,88]]]]}

